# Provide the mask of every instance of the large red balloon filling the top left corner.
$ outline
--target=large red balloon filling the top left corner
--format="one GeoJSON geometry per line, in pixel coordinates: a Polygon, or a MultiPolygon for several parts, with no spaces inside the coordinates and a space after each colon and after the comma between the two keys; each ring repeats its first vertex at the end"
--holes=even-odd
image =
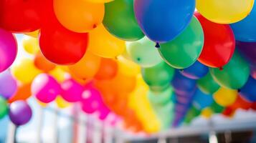
{"type": "Polygon", "coordinates": [[[0,1],[0,27],[14,32],[30,32],[40,28],[39,3],[34,0],[0,1]]]}

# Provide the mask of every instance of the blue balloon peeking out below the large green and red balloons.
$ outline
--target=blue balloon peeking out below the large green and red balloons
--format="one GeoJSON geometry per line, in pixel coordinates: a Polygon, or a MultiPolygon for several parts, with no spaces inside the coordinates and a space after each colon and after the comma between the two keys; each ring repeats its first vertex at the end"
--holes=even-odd
{"type": "Polygon", "coordinates": [[[186,69],[181,70],[181,74],[189,79],[201,79],[206,76],[209,71],[207,66],[201,64],[199,61],[196,61],[194,64],[189,66],[186,69]]]}

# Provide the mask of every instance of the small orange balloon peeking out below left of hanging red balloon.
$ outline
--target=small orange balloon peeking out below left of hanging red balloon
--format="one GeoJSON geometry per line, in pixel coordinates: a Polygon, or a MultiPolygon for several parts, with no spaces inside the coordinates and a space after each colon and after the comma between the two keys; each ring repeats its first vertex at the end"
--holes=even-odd
{"type": "Polygon", "coordinates": [[[34,58],[34,65],[37,67],[37,69],[40,69],[44,72],[52,71],[52,69],[56,67],[55,64],[53,64],[51,61],[48,61],[44,57],[41,51],[37,52],[37,55],[34,58]]]}

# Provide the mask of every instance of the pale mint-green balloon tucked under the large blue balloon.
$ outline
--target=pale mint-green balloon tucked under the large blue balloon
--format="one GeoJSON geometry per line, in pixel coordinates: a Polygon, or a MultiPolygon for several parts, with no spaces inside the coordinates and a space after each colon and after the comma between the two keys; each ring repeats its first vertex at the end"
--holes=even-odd
{"type": "Polygon", "coordinates": [[[142,67],[155,66],[163,61],[155,43],[146,36],[138,41],[127,42],[126,49],[131,59],[142,67]]]}

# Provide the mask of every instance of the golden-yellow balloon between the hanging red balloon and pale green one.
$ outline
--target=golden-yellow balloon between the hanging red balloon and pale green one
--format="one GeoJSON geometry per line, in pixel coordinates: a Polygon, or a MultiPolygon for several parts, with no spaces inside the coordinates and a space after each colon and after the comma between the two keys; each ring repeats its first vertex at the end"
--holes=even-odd
{"type": "Polygon", "coordinates": [[[125,50],[125,41],[115,38],[107,29],[100,24],[96,29],[89,33],[89,46],[88,50],[98,56],[104,58],[115,58],[123,54],[125,50]]]}

